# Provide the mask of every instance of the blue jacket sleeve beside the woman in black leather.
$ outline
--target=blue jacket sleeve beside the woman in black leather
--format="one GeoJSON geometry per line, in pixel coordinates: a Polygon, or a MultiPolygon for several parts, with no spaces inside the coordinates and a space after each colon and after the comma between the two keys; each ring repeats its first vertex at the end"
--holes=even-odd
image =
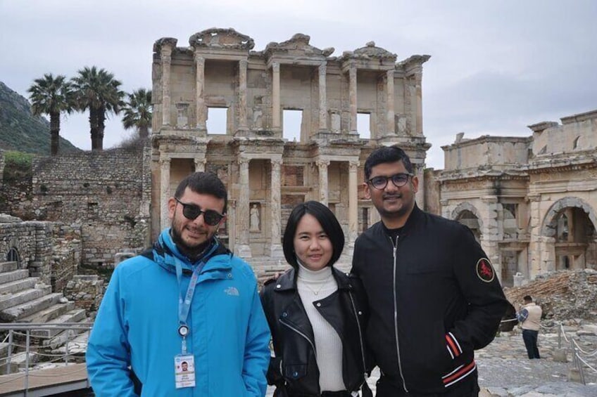
{"type": "Polygon", "coordinates": [[[243,379],[247,396],[265,396],[268,387],[265,373],[270,364],[270,328],[265,320],[263,308],[257,292],[257,283],[253,289],[251,318],[246,331],[244,350],[243,379]]]}

